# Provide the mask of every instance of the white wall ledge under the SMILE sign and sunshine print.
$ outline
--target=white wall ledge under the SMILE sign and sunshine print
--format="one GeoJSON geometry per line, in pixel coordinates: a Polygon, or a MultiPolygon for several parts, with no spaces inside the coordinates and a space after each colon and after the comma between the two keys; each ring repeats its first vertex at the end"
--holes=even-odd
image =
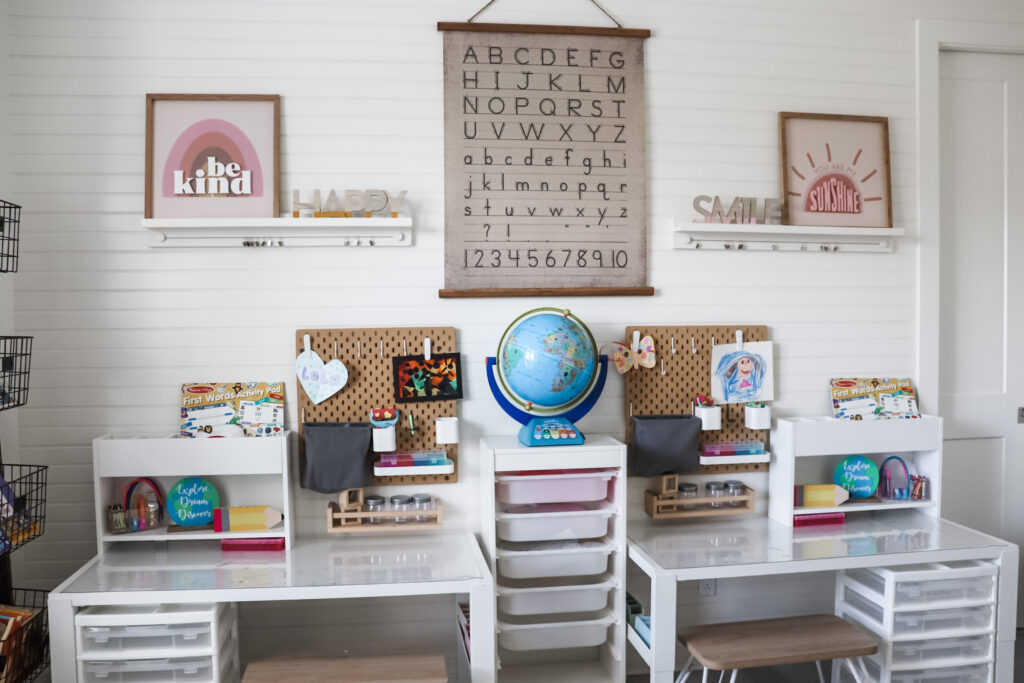
{"type": "Polygon", "coordinates": [[[901,227],[679,224],[675,249],[803,252],[891,252],[901,227]]]}

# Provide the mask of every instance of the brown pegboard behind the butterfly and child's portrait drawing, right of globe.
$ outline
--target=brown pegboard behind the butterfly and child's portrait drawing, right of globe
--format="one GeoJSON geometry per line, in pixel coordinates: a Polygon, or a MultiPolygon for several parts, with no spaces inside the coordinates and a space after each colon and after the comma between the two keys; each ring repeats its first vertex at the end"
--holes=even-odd
{"type": "MultiPolygon", "coordinates": [[[[744,342],[769,341],[768,328],[750,325],[718,327],[637,327],[626,328],[626,343],[633,332],[654,340],[657,362],[653,368],[637,368],[626,373],[626,415],[692,415],[693,397],[711,395],[711,348],[734,344],[736,330],[744,342]],[[674,350],[674,352],[673,352],[674,350]]],[[[743,403],[722,405],[722,428],[700,432],[700,447],[721,441],[764,441],[769,430],[748,429],[743,424],[743,403]]],[[[633,441],[633,421],[626,421],[626,441],[633,441]]],[[[746,465],[701,465],[700,474],[764,472],[767,463],[746,465]]]]}

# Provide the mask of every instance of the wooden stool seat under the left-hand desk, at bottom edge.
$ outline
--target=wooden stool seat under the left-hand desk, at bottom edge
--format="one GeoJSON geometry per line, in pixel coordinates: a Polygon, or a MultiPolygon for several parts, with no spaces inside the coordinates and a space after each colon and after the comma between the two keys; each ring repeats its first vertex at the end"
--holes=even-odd
{"type": "Polygon", "coordinates": [[[447,683],[440,654],[379,657],[296,656],[253,661],[242,683],[447,683]]]}

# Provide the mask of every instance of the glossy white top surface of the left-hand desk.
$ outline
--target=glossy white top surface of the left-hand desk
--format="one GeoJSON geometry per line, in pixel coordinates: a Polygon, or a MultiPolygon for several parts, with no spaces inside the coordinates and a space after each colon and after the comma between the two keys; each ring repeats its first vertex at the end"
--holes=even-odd
{"type": "MultiPolygon", "coordinates": [[[[297,539],[288,552],[223,552],[216,543],[121,544],[94,558],[57,590],[73,594],[205,591],[300,593],[338,597],[444,593],[455,584],[489,582],[471,533],[391,533],[297,539]]],[[[259,599],[257,596],[251,596],[259,599]]],[[[301,597],[295,595],[293,597],[301,597]]],[[[210,599],[209,596],[207,599],[210,599]]]]}

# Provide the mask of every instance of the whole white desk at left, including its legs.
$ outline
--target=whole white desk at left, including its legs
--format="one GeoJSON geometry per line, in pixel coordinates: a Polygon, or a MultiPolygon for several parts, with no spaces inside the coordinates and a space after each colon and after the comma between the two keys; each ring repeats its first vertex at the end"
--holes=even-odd
{"type": "MultiPolygon", "coordinates": [[[[122,545],[50,594],[55,683],[76,680],[75,611],[88,605],[468,594],[473,631],[495,629],[494,581],[472,533],[299,539],[280,553],[223,553],[209,542],[122,545]]],[[[456,629],[454,604],[451,616],[456,629]]],[[[494,647],[493,638],[472,639],[473,683],[494,683],[494,647]]]]}

